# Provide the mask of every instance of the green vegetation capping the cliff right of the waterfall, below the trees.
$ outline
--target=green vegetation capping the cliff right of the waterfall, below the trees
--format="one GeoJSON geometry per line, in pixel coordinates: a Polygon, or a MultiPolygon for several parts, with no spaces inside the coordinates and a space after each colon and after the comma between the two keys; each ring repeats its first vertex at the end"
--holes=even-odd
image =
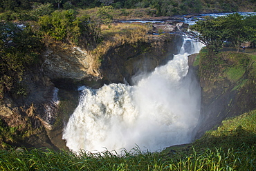
{"type": "Polygon", "coordinates": [[[239,79],[246,79],[244,78],[246,71],[253,75],[255,67],[252,65],[255,63],[255,55],[234,51],[210,54],[207,48],[203,48],[196,63],[199,63],[199,74],[202,78],[212,81],[222,81],[226,78],[235,83],[239,79]],[[248,66],[252,67],[248,68],[248,66]]]}

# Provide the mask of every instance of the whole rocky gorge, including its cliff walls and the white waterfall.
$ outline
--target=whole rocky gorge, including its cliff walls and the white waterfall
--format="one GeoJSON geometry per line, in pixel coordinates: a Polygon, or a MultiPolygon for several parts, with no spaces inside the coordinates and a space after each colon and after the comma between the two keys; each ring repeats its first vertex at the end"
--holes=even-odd
{"type": "MultiPolygon", "coordinates": [[[[7,94],[1,105],[2,121],[36,130],[13,145],[101,151],[138,144],[154,151],[190,143],[226,117],[255,108],[253,62],[237,81],[223,77],[221,70],[214,75],[205,70],[196,78],[198,68],[188,69],[188,56],[201,45],[179,34],[147,37],[110,48],[98,69],[91,67],[92,54],[86,51],[47,47],[42,66],[24,79],[28,96],[7,94]]],[[[232,57],[223,59],[232,63],[232,57]]]]}

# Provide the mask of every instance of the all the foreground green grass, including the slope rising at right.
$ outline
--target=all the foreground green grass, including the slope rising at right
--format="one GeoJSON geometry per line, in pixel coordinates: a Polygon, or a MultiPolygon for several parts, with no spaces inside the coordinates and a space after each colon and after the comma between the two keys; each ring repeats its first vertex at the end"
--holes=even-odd
{"type": "Polygon", "coordinates": [[[256,110],[223,121],[189,145],[121,154],[49,149],[0,150],[1,170],[255,170],[256,110]]]}

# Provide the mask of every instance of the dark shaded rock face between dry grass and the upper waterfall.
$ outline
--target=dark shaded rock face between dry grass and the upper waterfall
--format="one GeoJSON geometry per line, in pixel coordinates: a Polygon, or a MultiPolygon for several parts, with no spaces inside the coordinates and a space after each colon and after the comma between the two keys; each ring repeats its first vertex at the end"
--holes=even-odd
{"type": "Polygon", "coordinates": [[[100,68],[104,83],[128,81],[135,74],[147,73],[179,53],[183,38],[177,34],[150,36],[147,42],[111,48],[102,58],[100,68]]]}

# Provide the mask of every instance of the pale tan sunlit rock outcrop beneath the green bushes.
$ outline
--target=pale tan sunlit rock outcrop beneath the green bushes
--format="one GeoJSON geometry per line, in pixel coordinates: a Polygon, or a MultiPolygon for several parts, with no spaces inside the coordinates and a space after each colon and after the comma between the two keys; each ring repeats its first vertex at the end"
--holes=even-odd
{"type": "Polygon", "coordinates": [[[57,44],[47,47],[44,54],[42,69],[54,79],[85,79],[99,77],[99,73],[91,68],[93,57],[86,50],[78,47],[57,44]]]}

